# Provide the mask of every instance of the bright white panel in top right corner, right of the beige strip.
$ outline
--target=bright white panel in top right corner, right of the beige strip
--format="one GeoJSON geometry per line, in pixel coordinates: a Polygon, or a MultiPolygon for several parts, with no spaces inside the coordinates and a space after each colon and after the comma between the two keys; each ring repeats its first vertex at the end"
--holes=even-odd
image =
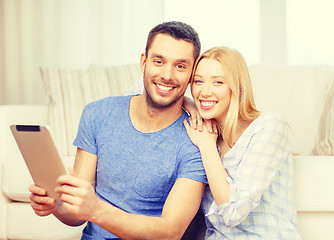
{"type": "Polygon", "coordinates": [[[287,0],[289,64],[334,64],[333,11],[333,0],[287,0]]]}

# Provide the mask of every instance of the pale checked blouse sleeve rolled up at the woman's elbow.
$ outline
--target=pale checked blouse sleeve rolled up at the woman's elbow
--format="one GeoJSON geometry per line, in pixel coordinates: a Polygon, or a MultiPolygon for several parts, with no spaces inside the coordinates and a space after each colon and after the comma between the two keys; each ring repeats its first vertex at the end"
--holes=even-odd
{"type": "Polygon", "coordinates": [[[228,227],[240,224],[259,205],[263,193],[291,154],[285,121],[277,115],[271,116],[264,120],[245,146],[234,178],[227,179],[231,188],[229,202],[217,206],[213,201],[208,212],[208,216],[218,214],[228,227]]]}

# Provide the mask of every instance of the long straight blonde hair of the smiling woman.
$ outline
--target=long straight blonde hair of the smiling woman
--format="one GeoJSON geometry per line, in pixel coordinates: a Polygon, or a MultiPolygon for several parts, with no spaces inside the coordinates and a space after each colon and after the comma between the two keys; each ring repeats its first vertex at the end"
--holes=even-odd
{"type": "Polygon", "coordinates": [[[238,118],[254,120],[260,115],[260,111],[255,107],[248,67],[244,57],[237,50],[228,47],[214,47],[197,58],[191,76],[191,85],[198,63],[205,58],[215,59],[221,63],[224,71],[224,83],[231,89],[231,101],[225,119],[225,127],[222,129],[222,126],[218,126],[218,128],[224,142],[232,147],[235,144],[238,118]]]}

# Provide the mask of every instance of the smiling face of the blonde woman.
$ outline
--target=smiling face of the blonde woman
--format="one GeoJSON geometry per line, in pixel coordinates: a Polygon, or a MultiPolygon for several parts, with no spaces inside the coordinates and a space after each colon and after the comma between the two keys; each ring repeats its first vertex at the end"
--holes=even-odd
{"type": "Polygon", "coordinates": [[[218,122],[225,119],[231,101],[231,89],[225,83],[220,62],[204,58],[198,63],[191,93],[202,118],[214,118],[218,122]]]}

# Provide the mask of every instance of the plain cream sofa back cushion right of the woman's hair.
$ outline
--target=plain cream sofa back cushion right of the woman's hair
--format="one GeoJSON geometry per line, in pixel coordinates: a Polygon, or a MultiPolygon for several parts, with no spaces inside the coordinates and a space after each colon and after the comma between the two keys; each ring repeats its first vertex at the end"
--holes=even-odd
{"type": "Polygon", "coordinates": [[[311,154],[334,66],[256,64],[249,71],[257,107],[282,115],[292,130],[293,151],[311,154]]]}

